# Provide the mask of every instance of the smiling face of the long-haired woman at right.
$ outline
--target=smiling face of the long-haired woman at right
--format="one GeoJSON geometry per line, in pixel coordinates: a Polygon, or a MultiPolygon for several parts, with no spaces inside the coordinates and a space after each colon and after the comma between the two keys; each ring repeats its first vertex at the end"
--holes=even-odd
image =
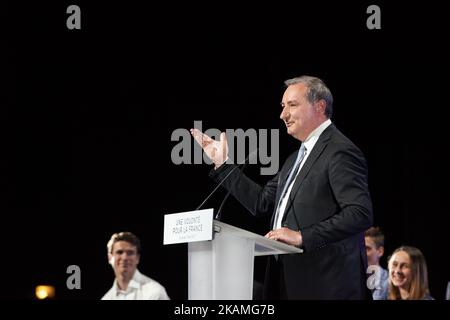
{"type": "Polygon", "coordinates": [[[395,253],[389,260],[389,279],[394,286],[409,290],[412,279],[411,259],[405,251],[395,253]]]}

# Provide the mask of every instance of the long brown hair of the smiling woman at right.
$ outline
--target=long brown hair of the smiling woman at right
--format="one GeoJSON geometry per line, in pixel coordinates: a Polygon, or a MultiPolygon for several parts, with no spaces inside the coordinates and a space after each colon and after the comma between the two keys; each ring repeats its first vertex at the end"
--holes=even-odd
{"type": "Polygon", "coordinates": [[[389,257],[389,295],[388,300],[401,300],[400,290],[392,284],[391,278],[391,258],[394,254],[399,251],[404,251],[408,254],[411,260],[411,284],[409,287],[409,297],[408,300],[421,300],[426,295],[430,293],[428,289],[428,271],[427,263],[422,252],[415,248],[409,246],[402,246],[394,251],[389,257]]]}

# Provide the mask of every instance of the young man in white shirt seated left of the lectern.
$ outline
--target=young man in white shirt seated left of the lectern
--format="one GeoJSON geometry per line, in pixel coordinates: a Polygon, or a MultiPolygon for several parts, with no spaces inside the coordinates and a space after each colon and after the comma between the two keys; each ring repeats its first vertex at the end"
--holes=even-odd
{"type": "Polygon", "coordinates": [[[141,254],[138,237],[131,232],[115,233],[107,248],[116,278],[102,300],[169,300],[162,285],[137,270],[141,254]]]}

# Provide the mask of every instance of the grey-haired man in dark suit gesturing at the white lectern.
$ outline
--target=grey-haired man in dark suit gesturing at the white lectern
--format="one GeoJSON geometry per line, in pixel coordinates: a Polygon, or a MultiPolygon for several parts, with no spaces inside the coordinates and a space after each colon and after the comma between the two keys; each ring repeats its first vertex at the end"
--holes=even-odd
{"type": "Polygon", "coordinates": [[[254,216],[272,215],[266,237],[304,250],[268,259],[264,298],[369,298],[364,231],[373,217],[364,155],[331,122],[333,97],[322,80],[285,84],[280,118],[301,145],[265,186],[226,162],[225,133],[219,141],[197,129],[192,135],[215,165],[212,178],[225,179],[254,216]]]}

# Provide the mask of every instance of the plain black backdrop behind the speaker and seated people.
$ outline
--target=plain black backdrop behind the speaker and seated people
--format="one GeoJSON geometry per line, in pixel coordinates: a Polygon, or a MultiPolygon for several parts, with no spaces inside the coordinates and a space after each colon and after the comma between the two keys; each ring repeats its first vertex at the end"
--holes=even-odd
{"type": "MultiPolygon", "coordinates": [[[[208,165],[172,163],[172,132],[196,120],[204,129],[279,129],[281,165],[298,147],[279,119],[283,81],[307,74],[328,84],[333,122],[367,157],[387,254],[419,247],[431,293],[443,299],[448,19],[440,2],[378,2],[382,28],[368,30],[370,4],[6,4],[1,295],[32,299],[48,283],[57,299],[99,299],[113,281],[106,242],[129,230],[142,240],[140,270],[187,298],[187,247],[162,245],[163,216],[193,210],[214,184],[208,165]],[[81,8],[81,30],[66,28],[70,4],[81,8]],[[66,288],[72,264],[81,290],[66,288]]],[[[246,172],[264,183],[259,168],[246,172]]],[[[217,209],[224,194],[206,207],[217,209]]],[[[231,198],[223,220],[268,230],[268,218],[231,198]]],[[[256,259],[259,281],[264,262],[256,259]]]]}

